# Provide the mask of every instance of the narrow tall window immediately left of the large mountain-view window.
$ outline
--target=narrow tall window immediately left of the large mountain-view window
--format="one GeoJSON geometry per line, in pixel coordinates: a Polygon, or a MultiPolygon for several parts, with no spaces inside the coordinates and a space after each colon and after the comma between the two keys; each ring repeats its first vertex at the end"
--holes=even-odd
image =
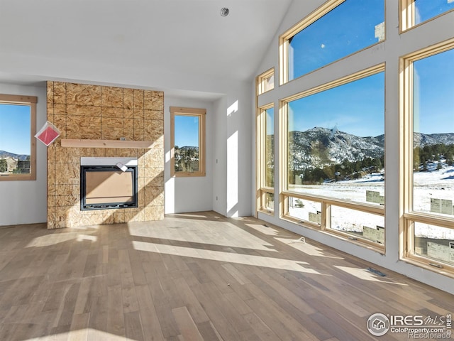
{"type": "Polygon", "coordinates": [[[268,104],[260,108],[258,117],[260,169],[260,209],[270,212],[275,207],[275,108],[268,104]]]}

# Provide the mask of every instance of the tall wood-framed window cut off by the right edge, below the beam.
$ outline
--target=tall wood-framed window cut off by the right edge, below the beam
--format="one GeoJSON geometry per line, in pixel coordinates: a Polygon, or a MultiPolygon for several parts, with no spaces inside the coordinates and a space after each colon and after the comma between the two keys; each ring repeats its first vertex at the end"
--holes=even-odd
{"type": "Polygon", "coordinates": [[[454,40],[402,59],[407,259],[454,271],[454,40]]]}

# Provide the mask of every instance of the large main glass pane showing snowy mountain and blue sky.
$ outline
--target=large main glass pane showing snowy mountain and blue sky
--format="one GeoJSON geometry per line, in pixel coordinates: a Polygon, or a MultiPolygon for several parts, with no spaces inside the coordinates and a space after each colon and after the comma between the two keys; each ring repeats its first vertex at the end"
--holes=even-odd
{"type": "Polygon", "coordinates": [[[384,72],[285,105],[287,189],[383,205],[384,72]]]}

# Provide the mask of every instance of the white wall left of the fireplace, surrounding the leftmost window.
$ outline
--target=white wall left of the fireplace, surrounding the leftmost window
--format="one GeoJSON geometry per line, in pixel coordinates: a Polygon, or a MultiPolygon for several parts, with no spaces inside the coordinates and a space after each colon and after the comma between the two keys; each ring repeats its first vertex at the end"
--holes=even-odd
{"type": "MultiPolygon", "coordinates": [[[[46,90],[0,84],[1,94],[37,96],[36,129],[46,121],[46,90]]],[[[36,141],[36,180],[0,181],[0,226],[47,222],[47,147],[36,141]]]]}

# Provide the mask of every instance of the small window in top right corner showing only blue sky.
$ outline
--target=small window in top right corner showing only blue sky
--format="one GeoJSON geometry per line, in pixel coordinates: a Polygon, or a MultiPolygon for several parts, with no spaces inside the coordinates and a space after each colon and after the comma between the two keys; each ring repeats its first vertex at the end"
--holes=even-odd
{"type": "Polygon", "coordinates": [[[453,0],[402,0],[402,31],[453,9],[453,0]]]}

